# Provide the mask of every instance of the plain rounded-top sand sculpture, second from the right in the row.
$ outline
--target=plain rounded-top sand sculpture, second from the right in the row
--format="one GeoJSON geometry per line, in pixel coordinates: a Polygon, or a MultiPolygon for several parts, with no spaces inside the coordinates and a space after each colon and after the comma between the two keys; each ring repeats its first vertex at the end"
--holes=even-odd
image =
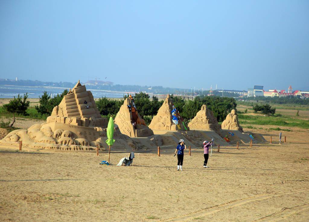
{"type": "Polygon", "coordinates": [[[213,111],[208,109],[206,105],[202,105],[201,110],[197,112],[196,116],[188,124],[188,127],[190,127],[191,130],[211,130],[221,135],[218,120],[214,117],[213,111]]]}

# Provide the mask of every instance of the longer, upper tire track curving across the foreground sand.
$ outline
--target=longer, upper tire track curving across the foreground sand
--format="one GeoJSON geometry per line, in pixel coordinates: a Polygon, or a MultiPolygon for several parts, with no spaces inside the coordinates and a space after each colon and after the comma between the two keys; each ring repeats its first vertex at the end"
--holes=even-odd
{"type": "Polygon", "coordinates": [[[211,207],[206,207],[204,209],[198,210],[198,211],[194,211],[194,212],[190,212],[187,214],[183,214],[183,215],[179,215],[179,216],[174,216],[171,218],[167,218],[167,219],[162,219],[159,220],[161,222],[163,221],[184,221],[184,220],[188,220],[188,219],[193,219],[193,217],[196,216],[206,216],[209,214],[213,214],[222,210],[226,210],[232,207],[237,207],[246,203],[250,203],[253,201],[258,201],[258,200],[264,200],[264,199],[269,199],[275,196],[280,196],[280,195],[285,195],[285,194],[290,194],[290,193],[297,193],[297,192],[301,192],[307,190],[306,188],[298,188],[298,189],[293,189],[293,190],[286,190],[286,191],[278,191],[275,193],[270,193],[270,194],[259,194],[259,195],[255,195],[252,197],[246,197],[246,198],[241,198],[241,199],[235,199],[235,200],[231,200],[229,202],[226,203],[221,203],[218,205],[214,205],[211,207]]]}

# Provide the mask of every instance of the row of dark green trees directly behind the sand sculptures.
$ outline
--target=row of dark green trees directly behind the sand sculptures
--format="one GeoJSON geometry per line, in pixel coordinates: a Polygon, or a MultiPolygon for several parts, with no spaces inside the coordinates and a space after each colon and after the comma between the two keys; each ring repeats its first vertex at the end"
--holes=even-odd
{"type": "MultiPolygon", "coordinates": [[[[64,90],[61,94],[51,97],[46,91],[44,91],[43,95],[40,96],[39,99],[40,104],[35,107],[37,112],[42,115],[50,115],[53,111],[53,107],[59,105],[64,95],[67,93],[68,91],[64,90]]],[[[95,103],[102,116],[115,116],[128,96],[129,95],[125,95],[120,100],[102,97],[96,99],[95,103]]],[[[26,101],[27,98],[27,94],[25,94],[23,98],[18,96],[18,98],[14,98],[14,100],[11,100],[9,104],[5,105],[4,108],[7,111],[13,112],[14,117],[15,112],[18,114],[27,115],[26,110],[29,107],[29,101],[26,101]]],[[[223,121],[228,112],[232,109],[236,109],[236,101],[234,98],[197,96],[194,100],[184,100],[179,96],[171,95],[171,99],[186,123],[195,117],[203,104],[206,104],[206,106],[214,112],[214,115],[217,117],[218,121],[223,121]]],[[[157,114],[159,108],[163,104],[163,101],[159,101],[157,97],[153,96],[152,99],[150,99],[149,94],[143,92],[135,94],[133,96],[133,100],[138,108],[138,113],[147,123],[149,123],[152,117],[157,114]]]]}

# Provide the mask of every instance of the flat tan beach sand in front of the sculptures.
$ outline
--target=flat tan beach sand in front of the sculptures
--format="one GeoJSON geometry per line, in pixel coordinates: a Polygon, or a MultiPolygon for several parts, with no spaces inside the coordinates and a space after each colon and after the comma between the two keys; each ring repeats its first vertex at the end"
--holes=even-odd
{"type": "Polygon", "coordinates": [[[133,166],[117,167],[99,165],[101,153],[2,148],[0,220],[307,221],[308,132],[283,132],[282,145],[277,134],[263,134],[274,144],[214,149],[208,169],[201,149],[186,151],[184,171],[168,153],[137,152],[133,166]]]}

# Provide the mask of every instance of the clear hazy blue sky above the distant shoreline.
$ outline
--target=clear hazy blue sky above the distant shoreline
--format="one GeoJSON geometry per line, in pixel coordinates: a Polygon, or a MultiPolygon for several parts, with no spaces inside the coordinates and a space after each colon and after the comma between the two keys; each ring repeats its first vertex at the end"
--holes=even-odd
{"type": "Polygon", "coordinates": [[[307,0],[2,0],[0,78],[309,90],[308,24],[307,0]]]}

